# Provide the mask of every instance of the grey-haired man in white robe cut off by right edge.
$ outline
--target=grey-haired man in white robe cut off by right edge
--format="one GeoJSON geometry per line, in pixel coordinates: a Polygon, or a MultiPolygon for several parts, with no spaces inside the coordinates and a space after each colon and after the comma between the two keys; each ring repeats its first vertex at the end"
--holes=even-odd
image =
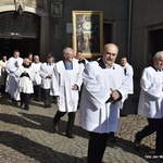
{"type": "Polygon", "coordinates": [[[135,136],[135,148],[141,140],[156,131],[155,154],[163,154],[163,51],[153,57],[153,65],[143,70],[138,114],[147,117],[148,125],[135,136]]]}

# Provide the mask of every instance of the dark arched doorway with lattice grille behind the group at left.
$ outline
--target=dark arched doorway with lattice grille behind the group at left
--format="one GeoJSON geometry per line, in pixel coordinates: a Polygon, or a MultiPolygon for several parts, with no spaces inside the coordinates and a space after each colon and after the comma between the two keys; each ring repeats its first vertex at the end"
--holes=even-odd
{"type": "Polygon", "coordinates": [[[4,12],[0,14],[0,55],[10,58],[13,50],[18,50],[22,58],[29,52],[39,55],[39,16],[27,12],[4,12]]]}

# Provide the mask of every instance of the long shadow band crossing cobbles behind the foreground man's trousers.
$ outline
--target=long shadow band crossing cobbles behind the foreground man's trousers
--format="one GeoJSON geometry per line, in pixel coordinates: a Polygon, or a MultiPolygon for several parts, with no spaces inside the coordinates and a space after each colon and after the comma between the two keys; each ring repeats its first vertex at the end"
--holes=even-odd
{"type": "MultiPolygon", "coordinates": [[[[0,120],[5,123],[10,123],[10,124],[16,124],[16,125],[28,127],[28,128],[41,129],[45,131],[53,133],[51,117],[42,116],[42,115],[26,114],[26,113],[21,113],[21,114],[23,115],[23,117],[16,116],[16,115],[0,114],[0,120]],[[30,121],[33,121],[34,123],[30,121]]],[[[67,122],[65,122],[65,121],[62,121],[62,120],[60,121],[60,130],[61,130],[62,136],[65,133],[66,123],[67,122]]],[[[79,126],[74,126],[74,135],[84,137],[87,139],[89,138],[88,133],[79,126]]],[[[147,156],[153,155],[152,154],[153,151],[150,147],[142,145],[141,151],[137,152],[137,151],[135,151],[134,143],[131,141],[128,141],[128,140],[125,140],[122,138],[116,137],[115,143],[108,141],[108,147],[110,147],[110,148],[118,147],[122,150],[124,150],[125,152],[133,153],[135,155],[139,155],[140,158],[147,160],[149,163],[155,163],[155,162],[163,161],[163,160],[156,160],[156,159],[154,159],[154,160],[147,159],[147,156]]]]}

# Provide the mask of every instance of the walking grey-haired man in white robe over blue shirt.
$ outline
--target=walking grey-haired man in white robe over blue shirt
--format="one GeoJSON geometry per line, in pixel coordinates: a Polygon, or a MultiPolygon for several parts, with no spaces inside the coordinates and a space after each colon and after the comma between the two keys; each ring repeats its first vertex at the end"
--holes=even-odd
{"type": "Polygon", "coordinates": [[[55,64],[52,76],[51,93],[58,97],[59,108],[53,118],[53,127],[54,130],[59,133],[59,121],[67,113],[66,137],[73,138],[73,126],[78,103],[78,91],[83,82],[83,71],[80,65],[73,60],[74,51],[72,48],[65,48],[63,55],[64,60],[55,64]]]}

